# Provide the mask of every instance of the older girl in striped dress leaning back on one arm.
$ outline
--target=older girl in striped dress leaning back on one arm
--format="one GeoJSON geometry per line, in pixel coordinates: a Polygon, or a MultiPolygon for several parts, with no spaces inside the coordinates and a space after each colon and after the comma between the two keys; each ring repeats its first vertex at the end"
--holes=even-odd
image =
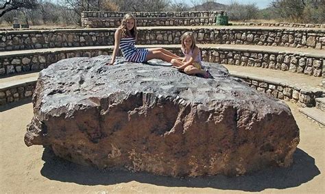
{"type": "Polygon", "coordinates": [[[136,48],[136,19],[132,14],[125,14],[120,27],[115,32],[115,46],[112,60],[108,64],[114,64],[119,49],[128,62],[146,62],[151,59],[160,59],[171,62],[172,59],[180,59],[179,56],[163,48],[139,49],[136,48]]]}

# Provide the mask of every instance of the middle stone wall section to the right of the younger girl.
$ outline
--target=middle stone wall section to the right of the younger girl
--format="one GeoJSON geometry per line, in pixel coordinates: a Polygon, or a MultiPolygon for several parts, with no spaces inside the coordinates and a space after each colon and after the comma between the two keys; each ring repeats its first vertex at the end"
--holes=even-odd
{"type": "Polygon", "coordinates": [[[300,53],[248,51],[245,49],[202,49],[204,61],[240,66],[255,66],[321,77],[325,56],[302,56],[300,53]]]}

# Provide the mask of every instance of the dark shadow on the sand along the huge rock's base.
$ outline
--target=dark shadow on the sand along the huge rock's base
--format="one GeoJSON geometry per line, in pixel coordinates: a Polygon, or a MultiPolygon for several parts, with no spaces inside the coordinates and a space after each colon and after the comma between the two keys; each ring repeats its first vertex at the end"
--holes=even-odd
{"type": "Polygon", "coordinates": [[[264,189],[285,189],[309,182],[320,174],[315,160],[306,152],[297,149],[293,165],[287,169],[270,168],[252,175],[228,178],[224,175],[202,178],[171,178],[149,173],[129,171],[103,171],[92,167],[82,167],[53,155],[46,148],[43,153],[45,164],[41,174],[50,180],[75,182],[83,185],[111,185],[122,182],[141,182],[157,186],[186,186],[240,191],[263,191],[264,189]]]}

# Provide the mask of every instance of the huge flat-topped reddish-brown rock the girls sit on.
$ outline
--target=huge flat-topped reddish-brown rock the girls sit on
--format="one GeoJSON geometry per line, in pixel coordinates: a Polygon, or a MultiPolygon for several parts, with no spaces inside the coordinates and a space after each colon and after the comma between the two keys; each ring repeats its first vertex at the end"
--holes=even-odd
{"type": "Polygon", "coordinates": [[[299,143],[289,107],[205,63],[215,79],[168,64],[70,58],[40,72],[25,144],[82,165],[159,175],[241,175],[288,167],[299,143]]]}

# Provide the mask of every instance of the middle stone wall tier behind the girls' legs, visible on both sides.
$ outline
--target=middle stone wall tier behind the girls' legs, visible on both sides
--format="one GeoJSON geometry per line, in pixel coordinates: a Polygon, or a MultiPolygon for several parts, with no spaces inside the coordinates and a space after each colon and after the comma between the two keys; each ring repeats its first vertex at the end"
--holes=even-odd
{"type": "MultiPolygon", "coordinates": [[[[145,46],[143,46],[145,47],[145,46]]],[[[180,47],[167,47],[173,53],[182,56],[180,47]]],[[[229,49],[202,47],[202,58],[207,62],[217,62],[221,64],[233,64],[240,66],[256,66],[265,69],[277,69],[280,71],[291,71],[322,76],[325,66],[325,56],[315,56],[292,52],[278,51],[258,51],[257,49],[229,49]]],[[[70,49],[66,51],[47,51],[34,53],[21,53],[16,55],[0,56],[0,76],[14,73],[40,71],[49,64],[62,60],[64,58],[73,58],[79,56],[99,56],[112,53],[112,47],[101,49],[70,49]]],[[[120,55],[121,56],[121,55],[120,55]]]]}

